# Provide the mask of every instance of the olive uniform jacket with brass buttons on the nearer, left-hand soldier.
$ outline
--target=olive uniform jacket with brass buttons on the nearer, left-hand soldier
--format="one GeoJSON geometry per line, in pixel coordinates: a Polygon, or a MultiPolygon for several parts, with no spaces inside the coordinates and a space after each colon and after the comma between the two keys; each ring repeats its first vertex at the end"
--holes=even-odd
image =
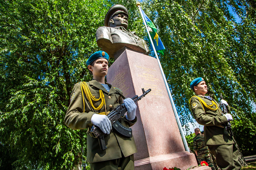
{"type": "MultiPolygon", "coordinates": [[[[90,92],[95,98],[99,99],[100,94],[99,90],[101,89],[104,94],[104,99],[106,103],[107,112],[110,112],[113,108],[123,103],[122,97],[119,93],[122,94],[122,91],[118,88],[114,88],[112,85],[109,85],[109,92],[96,80],[86,82],[89,87],[90,92]],[[118,93],[118,92],[119,93],[118,93]]],[[[119,135],[118,132],[115,132],[115,129],[112,128],[112,131],[109,135],[105,136],[105,143],[107,149],[104,151],[100,150],[99,141],[97,138],[93,138],[89,135],[90,127],[93,125],[91,122],[92,115],[95,113],[105,112],[105,107],[103,106],[100,110],[96,111],[92,108],[89,101],[87,100],[85,93],[84,102],[81,92],[81,83],[77,83],[71,93],[71,102],[68,107],[67,114],[65,116],[65,124],[71,129],[87,129],[87,162],[98,162],[111,159],[118,159],[122,157],[127,157],[137,152],[136,145],[133,137],[124,137],[119,135]],[[83,110],[84,109],[84,110],[83,110]]],[[[94,107],[98,107],[101,103],[99,101],[93,101],[94,107]]],[[[125,127],[129,128],[137,121],[137,117],[133,121],[128,121],[125,116],[119,120],[119,122],[125,127]]]]}

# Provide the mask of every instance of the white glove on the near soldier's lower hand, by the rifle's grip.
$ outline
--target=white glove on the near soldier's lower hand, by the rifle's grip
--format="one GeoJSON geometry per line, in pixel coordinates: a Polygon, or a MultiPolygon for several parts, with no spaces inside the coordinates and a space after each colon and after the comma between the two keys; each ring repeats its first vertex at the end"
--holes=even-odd
{"type": "Polygon", "coordinates": [[[98,126],[103,133],[109,134],[112,129],[111,122],[106,115],[93,114],[91,122],[98,126]]]}

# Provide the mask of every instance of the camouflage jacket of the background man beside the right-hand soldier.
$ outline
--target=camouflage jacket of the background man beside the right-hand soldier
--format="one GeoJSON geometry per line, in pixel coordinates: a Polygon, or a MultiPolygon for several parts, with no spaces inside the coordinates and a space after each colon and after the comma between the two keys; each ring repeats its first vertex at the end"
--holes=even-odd
{"type": "Polygon", "coordinates": [[[198,133],[196,135],[196,137],[194,137],[193,149],[194,149],[194,151],[197,151],[198,155],[202,155],[202,154],[206,154],[206,153],[210,154],[210,150],[209,150],[208,146],[206,146],[204,143],[204,135],[203,134],[198,133]]]}

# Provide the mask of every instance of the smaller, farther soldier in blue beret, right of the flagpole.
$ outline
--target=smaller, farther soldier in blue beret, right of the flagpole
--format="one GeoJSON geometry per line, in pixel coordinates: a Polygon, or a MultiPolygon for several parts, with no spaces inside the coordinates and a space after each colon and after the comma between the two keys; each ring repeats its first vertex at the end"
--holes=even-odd
{"type": "Polygon", "coordinates": [[[190,83],[190,88],[196,93],[196,96],[190,99],[192,113],[196,122],[204,125],[205,143],[216,157],[217,165],[222,170],[241,169],[236,144],[223,126],[224,123],[233,120],[229,114],[230,107],[227,101],[220,100],[220,104],[225,104],[228,111],[228,114],[222,116],[219,103],[210,96],[205,96],[207,85],[203,78],[194,79],[190,83]]]}

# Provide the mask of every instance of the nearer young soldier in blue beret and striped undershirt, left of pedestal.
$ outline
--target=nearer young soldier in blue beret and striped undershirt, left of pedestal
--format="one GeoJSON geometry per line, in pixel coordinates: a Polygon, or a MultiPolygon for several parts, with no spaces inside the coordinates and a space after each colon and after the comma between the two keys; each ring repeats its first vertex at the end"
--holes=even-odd
{"type": "MultiPolygon", "coordinates": [[[[77,83],[70,97],[65,124],[71,129],[87,129],[87,162],[91,170],[134,169],[133,154],[137,152],[133,137],[124,137],[112,129],[108,113],[123,103],[123,92],[105,82],[108,73],[108,54],[93,53],[86,64],[93,75],[92,81],[77,83]],[[90,135],[90,127],[98,126],[105,134],[107,149],[100,150],[99,141],[90,135]]],[[[136,121],[136,104],[124,99],[127,115],[119,122],[129,128],[136,121]]]]}

